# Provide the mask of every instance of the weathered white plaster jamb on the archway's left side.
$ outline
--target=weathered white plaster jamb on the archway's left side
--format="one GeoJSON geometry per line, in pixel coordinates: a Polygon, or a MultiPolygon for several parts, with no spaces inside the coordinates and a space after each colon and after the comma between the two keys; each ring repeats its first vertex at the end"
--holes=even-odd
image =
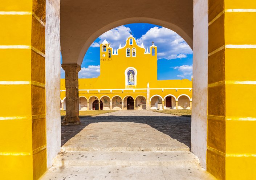
{"type": "Polygon", "coordinates": [[[60,0],[46,0],[45,94],[47,167],[61,150],[60,0]]]}

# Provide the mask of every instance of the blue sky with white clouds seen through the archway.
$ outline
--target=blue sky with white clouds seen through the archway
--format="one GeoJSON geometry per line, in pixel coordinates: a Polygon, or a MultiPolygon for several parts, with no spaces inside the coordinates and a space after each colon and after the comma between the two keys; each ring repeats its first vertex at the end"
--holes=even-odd
{"type": "MultiPolygon", "coordinates": [[[[99,44],[105,39],[111,47],[118,49],[119,44],[125,45],[130,32],[137,43],[145,48],[154,41],[158,47],[157,72],[158,80],[163,79],[191,79],[193,54],[188,44],[175,32],[162,26],[145,23],[135,23],[119,26],[99,36],[90,46],[82,62],[79,78],[98,77],[100,70],[99,44]]],[[[61,69],[61,78],[65,78],[61,69]]]]}

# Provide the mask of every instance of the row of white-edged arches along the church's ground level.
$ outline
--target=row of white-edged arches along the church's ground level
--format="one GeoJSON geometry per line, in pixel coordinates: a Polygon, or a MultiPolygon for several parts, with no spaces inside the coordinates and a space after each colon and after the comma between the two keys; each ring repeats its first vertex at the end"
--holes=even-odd
{"type": "MultiPolygon", "coordinates": [[[[66,98],[61,101],[61,110],[66,110],[66,98]]],[[[79,110],[146,110],[146,98],[142,95],[137,95],[137,97],[126,96],[124,98],[120,96],[102,96],[100,101],[99,109],[99,100],[98,97],[93,96],[88,98],[81,96],[79,97],[79,110]],[[135,101],[134,101],[135,99],[135,101]],[[89,108],[88,108],[89,107],[89,108]]],[[[150,98],[151,110],[163,110],[163,109],[191,109],[192,100],[188,95],[180,95],[176,98],[174,95],[166,95],[166,97],[161,97],[160,95],[153,95],[150,98]]]]}

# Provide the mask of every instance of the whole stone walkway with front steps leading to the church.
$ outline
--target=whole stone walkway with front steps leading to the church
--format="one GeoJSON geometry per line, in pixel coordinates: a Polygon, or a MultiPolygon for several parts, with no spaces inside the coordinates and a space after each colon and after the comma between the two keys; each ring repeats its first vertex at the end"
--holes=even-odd
{"type": "Polygon", "coordinates": [[[191,118],[127,110],[81,118],[42,180],[213,180],[190,152],[191,118]],[[178,140],[176,140],[178,139],[178,140]]]}

